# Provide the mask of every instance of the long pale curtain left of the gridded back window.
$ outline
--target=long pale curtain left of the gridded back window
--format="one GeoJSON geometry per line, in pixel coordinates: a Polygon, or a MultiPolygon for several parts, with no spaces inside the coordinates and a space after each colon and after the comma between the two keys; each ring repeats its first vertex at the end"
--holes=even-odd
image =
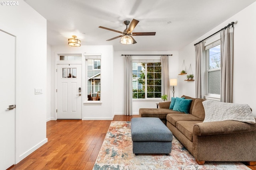
{"type": "Polygon", "coordinates": [[[125,56],[124,115],[132,115],[132,56],[125,56]]]}

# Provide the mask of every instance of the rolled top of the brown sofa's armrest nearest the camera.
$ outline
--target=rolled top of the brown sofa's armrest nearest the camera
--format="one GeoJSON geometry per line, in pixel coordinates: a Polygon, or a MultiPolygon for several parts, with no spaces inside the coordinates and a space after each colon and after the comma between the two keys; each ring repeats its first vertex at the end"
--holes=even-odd
{"type": "Polygon", "coordinates": [[[250,131],[256,131],[256,123],[225,120],[196,123],[193,128],[193,135],[205,136],[250,131]]]}

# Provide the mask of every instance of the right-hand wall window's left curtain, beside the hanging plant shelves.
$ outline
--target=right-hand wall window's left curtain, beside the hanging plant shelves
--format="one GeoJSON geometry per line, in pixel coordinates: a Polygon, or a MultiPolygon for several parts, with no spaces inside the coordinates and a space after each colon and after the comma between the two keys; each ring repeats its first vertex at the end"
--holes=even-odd
{"type": "Polygon", "coordinates": [[[204,41],[195,45],[195,54],[196,54],[196,98],[204,98],[202,95],[203,89],[203,79],[202,79],[202,69],[203,69],[203,56],[204,56],[204,41]]]}

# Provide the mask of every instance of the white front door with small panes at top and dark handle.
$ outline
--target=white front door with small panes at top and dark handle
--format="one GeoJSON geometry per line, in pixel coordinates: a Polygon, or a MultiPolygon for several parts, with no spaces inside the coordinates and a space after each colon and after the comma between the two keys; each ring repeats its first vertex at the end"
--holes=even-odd
{"type": "Polygon", "coordinates": [[[57,119],[82,119],[82,65],[57,65],[57,119]]]}

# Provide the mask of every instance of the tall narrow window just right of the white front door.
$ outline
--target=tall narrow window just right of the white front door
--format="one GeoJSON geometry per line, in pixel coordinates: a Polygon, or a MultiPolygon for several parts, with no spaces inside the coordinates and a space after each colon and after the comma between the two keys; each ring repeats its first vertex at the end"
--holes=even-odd
{"type": "Polygon", "coordinates": [[[100,101],[100,59],[87,59],[87,100],[100,101]]]}

